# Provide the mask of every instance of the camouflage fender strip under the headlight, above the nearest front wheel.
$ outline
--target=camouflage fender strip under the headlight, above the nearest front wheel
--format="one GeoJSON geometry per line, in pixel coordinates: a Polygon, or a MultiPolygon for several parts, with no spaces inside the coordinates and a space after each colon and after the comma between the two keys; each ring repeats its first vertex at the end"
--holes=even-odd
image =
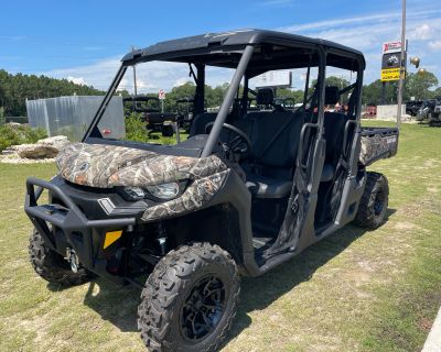
{"type": "Polygon", "coordinates": [[[196,179],[181,197],[146,209],[142,220],[171,218],[201,208],[220,189],[229,172],[227,169],[196,179]]]}

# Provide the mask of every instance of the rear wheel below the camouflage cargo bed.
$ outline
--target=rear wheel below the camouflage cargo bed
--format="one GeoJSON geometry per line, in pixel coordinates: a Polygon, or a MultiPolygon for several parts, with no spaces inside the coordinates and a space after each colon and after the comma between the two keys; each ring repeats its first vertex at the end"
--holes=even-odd
{"type": "Polygon", "coordinates": [[[355,223],[376,229],[385,220],[389,202],[389,185],[385,175],[367,173],[366,188],[359,201],[355,223]]]}

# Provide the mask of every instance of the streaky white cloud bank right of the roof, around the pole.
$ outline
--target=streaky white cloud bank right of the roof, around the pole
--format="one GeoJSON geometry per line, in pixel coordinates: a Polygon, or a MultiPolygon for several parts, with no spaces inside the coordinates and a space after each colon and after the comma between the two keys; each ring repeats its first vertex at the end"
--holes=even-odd
{"type": "MultiPolygon", "coordinates": [[[[421,57],[422,67],[434,67],[433,72],[441,76],[441,58],[428,53],[428,46],[438,51],[441,41],[441,10],[438,8],[416,10],[408,9],[407,38],[409,41],[409,56],[421,57]]],[[[337,42],[362,51],[366,58],[365,81],[370,82],[379,78],[381,43],[399,40],[401,35],[401,16],[385,12],[365,16],[333,19],[291,25],[283,31],[321,37],[337,42]]],[[[409,67],[410,69],[410,67],[409,67]]]]}

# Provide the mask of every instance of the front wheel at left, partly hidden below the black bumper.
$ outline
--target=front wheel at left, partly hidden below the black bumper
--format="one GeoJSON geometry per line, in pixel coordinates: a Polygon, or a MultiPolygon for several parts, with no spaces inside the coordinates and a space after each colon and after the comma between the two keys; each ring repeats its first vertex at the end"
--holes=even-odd
{"type": "Polygon", "coordinates": [[[76,286],[88,282],[93,276],[85,268],[79,268],[74,273],[69,263],[62,255],[44,244],[43,238],[36,230],[32,232],[30,238],[29,256],[36,274],[50,283],[76,286]]]}

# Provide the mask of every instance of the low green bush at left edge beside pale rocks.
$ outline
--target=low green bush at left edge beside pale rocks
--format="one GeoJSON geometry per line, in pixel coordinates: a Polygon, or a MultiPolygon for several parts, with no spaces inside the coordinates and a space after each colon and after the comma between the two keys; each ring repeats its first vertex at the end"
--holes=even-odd
{"type": "Polygon", "coordinates": [[[11,145],[35,143],[47,136],[44,129],[32,129],[28,125],[0,125],[0,152],[11,145]]]}

